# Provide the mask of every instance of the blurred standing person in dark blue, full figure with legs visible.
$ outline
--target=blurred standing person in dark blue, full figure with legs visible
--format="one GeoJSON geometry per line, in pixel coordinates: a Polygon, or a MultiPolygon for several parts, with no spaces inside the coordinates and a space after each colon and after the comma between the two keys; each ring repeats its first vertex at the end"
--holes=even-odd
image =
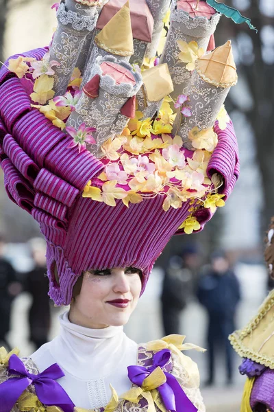
{"type": "Polygon", "coordinates": [[[227,385],[233,382],[233,350],[228,336],[235,329],[234,318],[240,301],[240,285],[223,251],[212,254],[198,282],[197,297],[208,312],[208,380],[214,384],[216,352],[225,352],[227,385]]]}

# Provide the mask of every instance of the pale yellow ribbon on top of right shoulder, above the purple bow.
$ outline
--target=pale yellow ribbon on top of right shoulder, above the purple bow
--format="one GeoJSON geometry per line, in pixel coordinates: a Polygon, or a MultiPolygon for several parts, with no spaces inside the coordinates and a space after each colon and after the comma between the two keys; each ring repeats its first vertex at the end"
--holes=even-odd
{"type": "Polygon", "coordinates": [[[162,339],[158,339],[157,341],[147,343],[147,350],[159,352],[162,349],[172,349],[171,345],[173,345],[177,347],[178,350],[195,349],[198,352],[206,352],[206,349],[203,349],[203,347],[193,345],[192,343],[184,343],[185,339],[185,335],[170,334],[168,336],[164,336],[162,339]]]}

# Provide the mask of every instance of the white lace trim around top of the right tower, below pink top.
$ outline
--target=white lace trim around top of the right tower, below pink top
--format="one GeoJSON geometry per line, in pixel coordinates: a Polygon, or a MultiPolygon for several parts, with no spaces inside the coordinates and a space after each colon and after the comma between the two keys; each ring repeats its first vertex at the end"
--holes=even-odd
{"type": "Polygon", "coordinates": [[[214,33],[216,25],[220,20],[220,17],[221,14],[216,13],[212,16],[210,20],[208,20],[206,17],[203,16],[191,17],[184,10],[174,10],[172,20],[176,21],[177,23],[184,23],[186,29],[188,30],[196,29],[197,27],[201,29],[201,27],[203,27],[203,29],[206,30],[206,32],[210,32],[205,33],[205,36],[208,36],[209,34],[214,33]]]}

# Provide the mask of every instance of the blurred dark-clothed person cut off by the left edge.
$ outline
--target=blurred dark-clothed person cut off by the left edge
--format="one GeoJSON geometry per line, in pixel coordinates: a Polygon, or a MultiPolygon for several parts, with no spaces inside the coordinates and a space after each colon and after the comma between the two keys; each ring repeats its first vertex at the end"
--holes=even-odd
{"type": "Polygon", "coordinates": [[[21,290],[14,268],[5,258],[5,239],[0,235],[0,346],[4,345],[8,350],[11,348],[5,336],[10,330],[12,300],[21,290]]]}

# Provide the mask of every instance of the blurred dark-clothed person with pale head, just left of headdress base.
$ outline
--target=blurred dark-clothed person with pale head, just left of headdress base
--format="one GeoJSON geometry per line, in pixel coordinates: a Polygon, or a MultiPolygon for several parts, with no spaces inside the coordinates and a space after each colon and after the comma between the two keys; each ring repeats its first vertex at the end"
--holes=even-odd
{"type": "Polygon", "coordinates": [[[33,238],[29,240],[29,247],[34,260],[34,268],[26,274],[25,281],[25,290],[32,295],[32,306],[29,308],[29,340],[38,349],[47,343],[51,323],[46,242],[42,238],[33,238]]]}

